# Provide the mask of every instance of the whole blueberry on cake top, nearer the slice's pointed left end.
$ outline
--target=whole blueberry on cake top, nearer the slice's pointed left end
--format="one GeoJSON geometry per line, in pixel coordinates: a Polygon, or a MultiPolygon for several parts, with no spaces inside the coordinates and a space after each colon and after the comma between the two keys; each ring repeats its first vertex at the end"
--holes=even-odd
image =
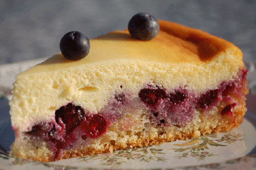
{"type": "Polygon", "coordinates": [[[60,40],[60,51],[65,58],[79,60],[88,55],[90,41],[83,33],[71,31],[60,40]]]}

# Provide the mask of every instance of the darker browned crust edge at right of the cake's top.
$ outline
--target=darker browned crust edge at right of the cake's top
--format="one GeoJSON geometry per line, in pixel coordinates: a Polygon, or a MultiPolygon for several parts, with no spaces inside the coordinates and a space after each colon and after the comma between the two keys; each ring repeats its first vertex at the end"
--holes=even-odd
{"type": "Polygon", "coordinates": [[[226,49],[234,46],[234,44],[229,41],[210,35],[199,29],[164,20],[159,20],[159,24],[160,31],[170,35],[161,38],[172,43],[177,42],[177,44],[180,44],[183,48],[187,48],[191,52],[197,54],[203,61],[212,59],[218,53],[224,52],[226,49]],[[173,37],[179,39],[174,39],[173,37]]]}

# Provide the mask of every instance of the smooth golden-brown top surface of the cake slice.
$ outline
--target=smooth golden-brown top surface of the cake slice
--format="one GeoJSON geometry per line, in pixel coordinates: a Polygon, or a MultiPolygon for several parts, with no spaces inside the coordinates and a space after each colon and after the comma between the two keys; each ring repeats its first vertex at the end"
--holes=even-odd
{"type": "Polygon", "coordinates": [[[24,74],[117,59],[204,65],[226,49],[232,50],[242,62],[241,50],[231,42],[177,23],[159,20],[159,24],[158,36],[150,41],[133,39],[127,29],[110,32],[90,40],[90,52],[80,61],[70,61],[59,53],[24,74]]]}

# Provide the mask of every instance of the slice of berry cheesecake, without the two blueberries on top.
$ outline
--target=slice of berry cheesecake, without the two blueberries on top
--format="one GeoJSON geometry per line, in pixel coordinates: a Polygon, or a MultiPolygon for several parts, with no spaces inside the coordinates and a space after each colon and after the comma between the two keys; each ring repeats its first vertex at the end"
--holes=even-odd
{"type": "Polygon", "coordinates": [[[11,154],[51,162],[228,131],[243,121],[247,70],[231,42],[158,20],[150,41],[126,29],[16,75],[11,154]]]}

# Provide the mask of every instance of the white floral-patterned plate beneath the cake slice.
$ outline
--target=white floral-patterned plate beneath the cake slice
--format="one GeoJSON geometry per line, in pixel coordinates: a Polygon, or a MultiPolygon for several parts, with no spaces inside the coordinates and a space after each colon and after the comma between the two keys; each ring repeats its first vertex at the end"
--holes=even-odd
{"type": "Polygon", "coordinates": [[[247,64],[248,110],[243,123],[232,131],[52,163],[10,156],[14,132],[8,103],[14,75],[41,61],[43,59],[0,66],[0,169],[256,169],[256,74],[253,63],[247,64]]]}

